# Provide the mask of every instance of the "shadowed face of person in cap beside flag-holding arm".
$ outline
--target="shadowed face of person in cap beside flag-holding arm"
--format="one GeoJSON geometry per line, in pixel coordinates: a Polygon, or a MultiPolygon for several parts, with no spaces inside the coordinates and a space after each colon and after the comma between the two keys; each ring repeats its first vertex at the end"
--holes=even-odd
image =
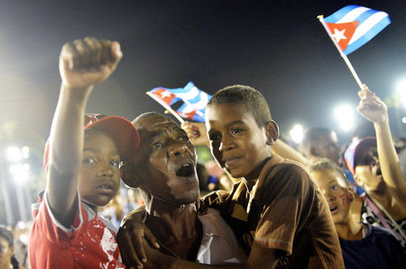
{"type": "Polygon", "coordinates": [[[356,164],[355,176],[357,182],[365,189],[378,189],[383,182],[383,176],[376,147],[370,147],[363,153],[356,164]]]}

